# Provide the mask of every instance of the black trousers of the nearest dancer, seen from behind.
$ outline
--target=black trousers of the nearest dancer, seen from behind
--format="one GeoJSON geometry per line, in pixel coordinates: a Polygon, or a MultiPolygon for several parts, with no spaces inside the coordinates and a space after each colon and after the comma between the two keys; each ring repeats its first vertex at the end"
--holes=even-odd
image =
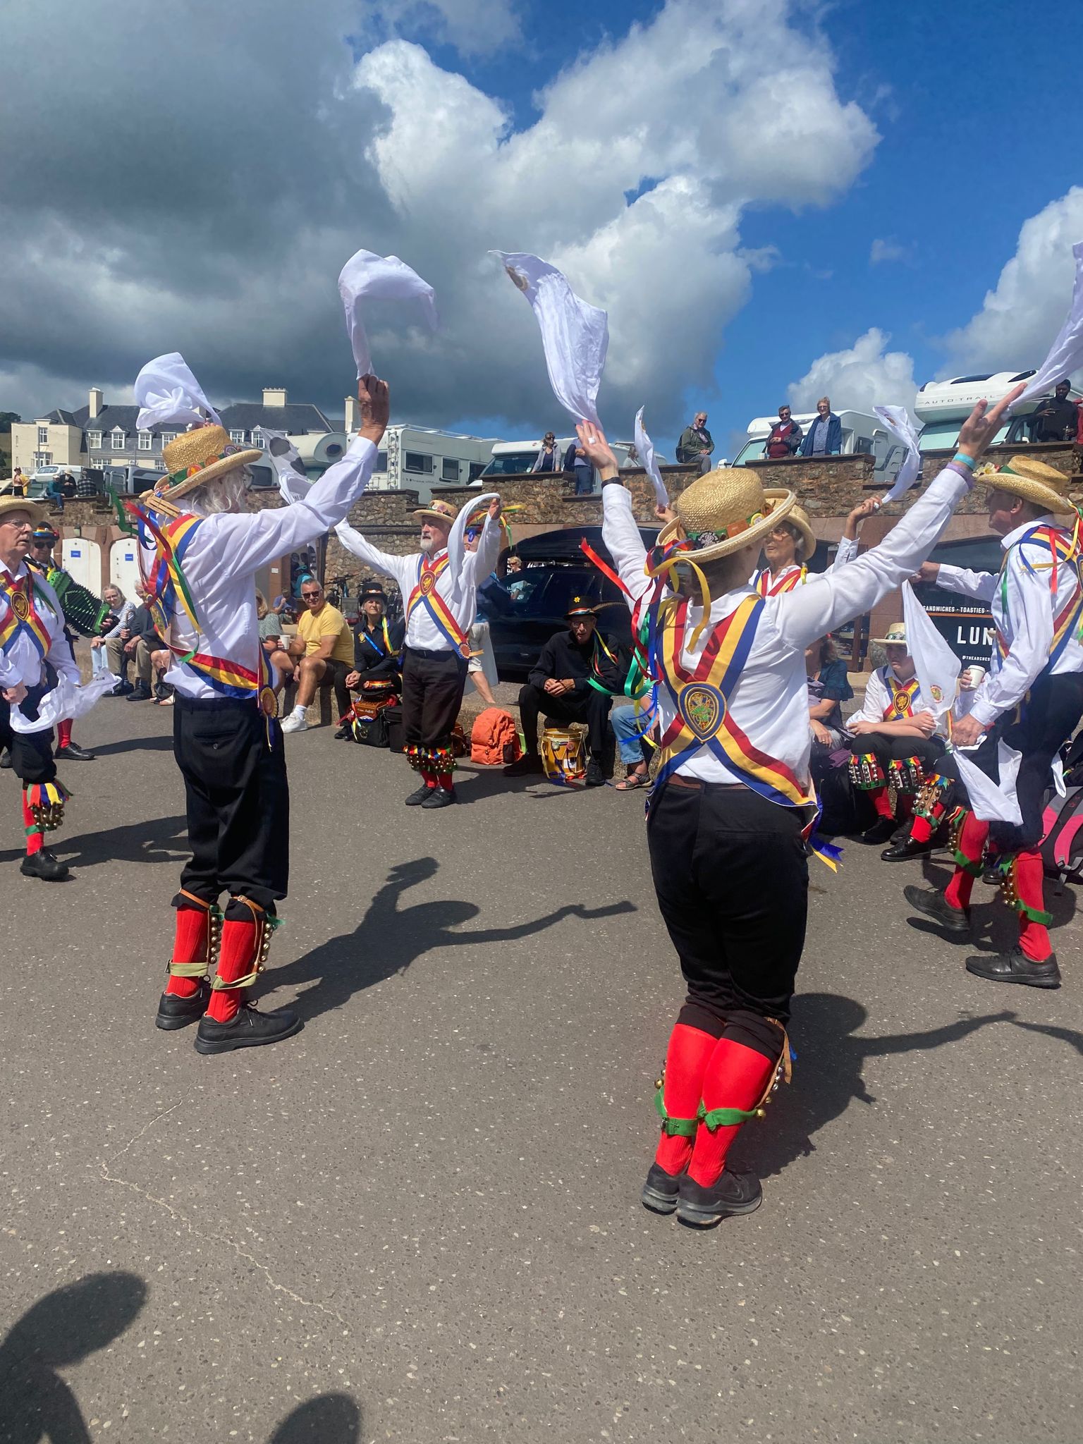
{"type": "Polygon", "coordinates": [[[804,817],[748,787],[663,784],[647,816],[654,891],[680,957],[680,1022],[778,1057],[809,910],[804,817]]]}

